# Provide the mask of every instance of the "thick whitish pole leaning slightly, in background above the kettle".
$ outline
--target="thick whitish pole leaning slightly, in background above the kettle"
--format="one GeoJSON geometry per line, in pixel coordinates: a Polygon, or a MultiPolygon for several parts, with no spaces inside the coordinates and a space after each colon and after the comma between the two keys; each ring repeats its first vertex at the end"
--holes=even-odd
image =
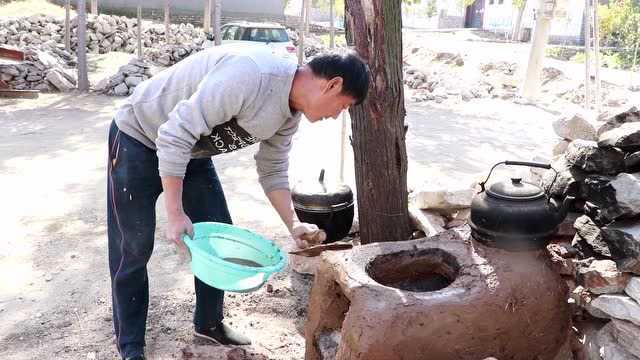
{"type": "Polygon", "coordinates": [[[554,8],[554,0],[540,0],[537,11],[536,30],[533,34],[529,64],[527,65],[527,77],[522,89],[522,96],[530,101],[540,95],[544,48],[549,41],[549,30],[551,28],[554,8]]]}

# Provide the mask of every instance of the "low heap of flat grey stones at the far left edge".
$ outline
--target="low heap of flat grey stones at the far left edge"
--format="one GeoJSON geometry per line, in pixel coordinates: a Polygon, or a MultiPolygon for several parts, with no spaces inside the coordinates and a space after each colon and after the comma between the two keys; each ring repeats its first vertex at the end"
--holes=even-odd
{"type": "Polygon", "coordinates": [[[25,61],[0,65],[0,79],[15,90],[70,91],[76,88],[75,59],[64,50],[29,46],[25,61]],[[47,49],[48,51],[43,51],[47,49]]]}

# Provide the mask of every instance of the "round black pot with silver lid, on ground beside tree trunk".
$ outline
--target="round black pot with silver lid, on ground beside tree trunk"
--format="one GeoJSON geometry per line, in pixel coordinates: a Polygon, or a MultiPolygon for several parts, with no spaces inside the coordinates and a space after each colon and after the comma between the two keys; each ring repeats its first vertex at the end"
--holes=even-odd
{"type": "Polygon", "coordinates": [[[353,224],[353,192],[345,184],[327,184],[324,170],[318,181],[297,184],[291,191],[293,208],[302,222],[315,224],[327,233],[325,243],[349,234],[353,224]]]}

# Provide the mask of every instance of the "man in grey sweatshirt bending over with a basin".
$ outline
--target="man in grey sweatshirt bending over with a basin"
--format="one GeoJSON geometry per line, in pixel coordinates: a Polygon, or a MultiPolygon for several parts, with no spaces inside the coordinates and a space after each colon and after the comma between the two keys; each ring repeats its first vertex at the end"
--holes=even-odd
{"type": "MultiPolygon", "coordinates": [[[[136,87],[109,132],[109,268],[123,358],[144,358],[146,265],[160,193],[167,237],[181,247],[182,236],[193,235],[193,222],[231,223],[211,156],[259,142],[259,182],[293,240],[304,246],[303,235],[317,227],[297,221],[287,176],[300,114],[310,122],[336,118],[362,102],[368,87],[367,67],[354,54],[319,56],[298,67],[266,49],[234,45],[190,56],[136,87]]],[[[249,344],[222,323],[224,292],[194,279],[195,334],[249,344]]]]}

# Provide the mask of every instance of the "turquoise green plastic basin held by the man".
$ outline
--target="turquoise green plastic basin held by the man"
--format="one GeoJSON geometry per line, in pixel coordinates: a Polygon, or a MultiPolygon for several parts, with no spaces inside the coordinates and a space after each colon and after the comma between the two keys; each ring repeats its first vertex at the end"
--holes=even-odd
{"type": "Polygon", "coordinates": [[[257,290],[287,264],[285,254],[273,242],[243,228],[201,222],[193,224],[193,233],[193,239],[183,237],[191,252],[191,271],[221,290],[257,290]]]}

